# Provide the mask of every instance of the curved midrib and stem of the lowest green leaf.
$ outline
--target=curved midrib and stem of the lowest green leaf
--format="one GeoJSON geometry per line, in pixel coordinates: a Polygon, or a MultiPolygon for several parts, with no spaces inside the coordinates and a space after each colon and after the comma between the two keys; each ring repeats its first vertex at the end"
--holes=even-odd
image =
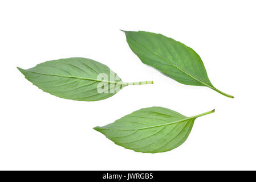
{"type": "MultiPolygon", "coordinates": [[[[211,111],[208,111],[206,113],[194,115],[192,117],[187,117],[187,118],[180,119],[180,120],[177,120],[177,121],[174,121],[174,122],[164,123],[164,124],[155,125],[155,126],[141,127],[139,129],[107,129],[107,128],[103,128],[103,127],[100,127],[99,129],[103,129],[103,130],[143,130],[143,129],[150,129],[150,128],[153,128],[153,127],[167,126],[167,125],[172,125],[174,123],[183,122],[183,121],[186,121],[186,120],[189,120],[189,119],[198,118],[198,117],[201,117],[202,115],[207,115],[207,114],[210,114],[210,113],[214,113],[214,111],[215,111],[215,109],[213,109],[211,111]]],[[[95,127],[95,128],[97,128],[97,127],[95,127]]]]}

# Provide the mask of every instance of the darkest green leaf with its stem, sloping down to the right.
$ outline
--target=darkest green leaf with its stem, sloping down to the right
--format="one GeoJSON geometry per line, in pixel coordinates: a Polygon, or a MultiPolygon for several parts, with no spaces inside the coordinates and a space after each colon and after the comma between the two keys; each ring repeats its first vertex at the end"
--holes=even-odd
{"type": "Polygon", "coordinates": [[[161,34],[124,31],[127,43],[140,60],[185,85],[208,86],[224,96],[210,82],[200,56],[190,47],[161,34]]]}

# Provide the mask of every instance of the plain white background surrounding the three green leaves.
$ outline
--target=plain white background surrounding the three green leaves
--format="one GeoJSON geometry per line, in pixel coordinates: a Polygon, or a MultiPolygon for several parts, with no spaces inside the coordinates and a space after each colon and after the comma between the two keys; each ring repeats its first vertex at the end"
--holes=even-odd
{"type": "Polygon", "coordinates": [[[0,169],[256,169],[255,1],[1,1],[0,169]],[[216,88],[182,85],[141,63],[119,29],[192,47],[216,88]],[[103,101],[65,100],[16,68],[68,57],[108,65],[127,86],[103,101]],[[143,107],[196,119],[180,147],[142,154],[93,130],[143,107]]]}

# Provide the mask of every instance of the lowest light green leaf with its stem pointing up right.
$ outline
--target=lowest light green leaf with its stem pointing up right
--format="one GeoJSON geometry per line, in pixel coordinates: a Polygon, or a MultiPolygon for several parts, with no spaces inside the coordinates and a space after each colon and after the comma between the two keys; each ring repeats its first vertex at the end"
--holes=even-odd
{"type": "Polygon", "coordinates": [[[148,107],[94,129],[117,145],[136,152],[166,152],[185,142],[196,118],[213,112],[185,117],[164,107],[148,107]]]}

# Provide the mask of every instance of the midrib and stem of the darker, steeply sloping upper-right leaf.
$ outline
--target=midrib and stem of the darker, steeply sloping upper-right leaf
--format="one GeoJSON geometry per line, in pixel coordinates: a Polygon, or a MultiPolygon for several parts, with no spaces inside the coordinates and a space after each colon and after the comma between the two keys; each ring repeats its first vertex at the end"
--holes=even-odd
{"type": "MultiPolygon", "coordinates": [[[[131,37],[130,37],[131,38],[131,37]]],[[[131,38],[132,39],[132,38],[131,38]]],[[[184,71],[183,69],[179,68],[177,65],[173,64],[171,61],[169,61],[168,59],[165,59],[164,57],[160,56],[158,53],[155,53],[153,51],[151,51],[150,49],[148,49],[147,47],[143,46],[143,44],[140,44],[139,42],[137,42],[135,39],[132,39],[134,42],[136,42],[137,44],[139,44],[140,46],[144,47],[145,49],[147,49],[149,52],[152,52],[154,55],[156,56],[159,56],[162,60],[165,60],[167,63],[173,65],[173,67],[179,69],[180,71],[184,72],[186,75],[192,77],[194,80],[200,82],[201,84],[205,85],[205,86],[208,86],[209,88],[217,91],[218,93],[221,93],[222,95],[224,96],[227,96],[227,97],[231,97],[231,98],[234,98],[233,96],[230,96],[229,94],[226,94],[224,92],[221,92],[221,90],[218,90],[216,89],[214,86],[211,86],[211,85],[208,85],[206,84],[205,82],[201,81],[201,80],[198,80],[196,77],[190,75],[188,72],[184,71]]]]}

